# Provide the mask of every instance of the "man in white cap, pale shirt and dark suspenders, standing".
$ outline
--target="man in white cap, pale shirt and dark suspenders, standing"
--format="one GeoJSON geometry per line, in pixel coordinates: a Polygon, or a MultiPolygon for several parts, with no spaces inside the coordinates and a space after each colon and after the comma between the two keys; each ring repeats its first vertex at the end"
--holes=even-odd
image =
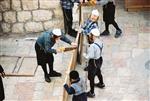
{"type": "Polygon", "coordinates": [[[103,82],[103,76],[101,74],[101,65],[103,63],[102,58],[102,48],[103,43],[98,39],[100,32],[97,28],[91,30],[90,40],[91,45],[88,48],[87,54],[84,53],[83,56],[88,59],[88,79],[90,81],[90,91],[87,92],[88,97],[95,97],[94,86],[99,88],[105,87],[103,82]],[[94,84],[94,78],[98,76],[99,83],[94,84]]]}

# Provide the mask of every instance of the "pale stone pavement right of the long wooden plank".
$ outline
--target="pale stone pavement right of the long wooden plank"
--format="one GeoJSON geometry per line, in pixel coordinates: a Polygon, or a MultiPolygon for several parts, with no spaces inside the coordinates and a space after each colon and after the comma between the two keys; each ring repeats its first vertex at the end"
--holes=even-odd
{"type": "MultiPolygon", "coordinates": [[[[111,35],[100,38],[104,43],[102,74],[106,87],[96,88],[95,98],[88,101],[150,101],[150,12],[126,12],[123,2],[117,3],[116,21],[123,35],[114,38],[115,28],[110,26],[111,35]]],[[[100,6],[96,8],[102,12],[100,6]]],[[[92,9],[83,8],[84,16],[92,9]]],[[[99,25],[102,32],[104,22],[99,21],[99,25]]],[[[77,67],[83,77],[85,66],[77,67]]],[[[88,80],[87,86],[88,91],[88,80]]]]}

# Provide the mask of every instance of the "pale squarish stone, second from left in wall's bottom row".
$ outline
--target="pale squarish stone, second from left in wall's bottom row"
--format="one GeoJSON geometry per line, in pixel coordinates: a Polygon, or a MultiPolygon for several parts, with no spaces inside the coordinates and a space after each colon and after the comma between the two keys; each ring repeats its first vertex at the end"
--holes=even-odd
{"type": "Polygon", "coordinates": [[[13,33],[23,33],[24,28],[23,28],[23,23],[16,23],[12,26],[12,32],[13,33]]]}

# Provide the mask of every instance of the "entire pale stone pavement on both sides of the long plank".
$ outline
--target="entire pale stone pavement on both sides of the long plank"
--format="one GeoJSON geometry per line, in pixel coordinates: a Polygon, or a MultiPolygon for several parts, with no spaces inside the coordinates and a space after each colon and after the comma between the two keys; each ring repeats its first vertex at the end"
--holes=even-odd
{"type": "MultiPolygon", "coordinates": [[[[123,2],[118,3],[116,21],[123,35],[114,38],[115,29],[110,26],[111,35],[101,37],[104,42],[102,74],[106,87],[96,88],[95,98],[88,101],[150,101],[150,12],[126,12],[123,2]]],[[[102,12],[101,6],[97,8],[102,12]]],[[[84,9],[88,14],[91,10],[90,7],[84,9]]],[[[99,24],[103,31],[104,23],[99,21],[99,24]]],[[[0,37],[0,54],[35,56],[34,41],[24,41],[24,38],[0,37]]],[[[70,55],[63,53],[55,56],[58,60],[55,61],[55,69],[64,75],[70,55]]],[[[86,77],[84,67],[85,63],[77,65],[77,70],[86,77]]],[[[61,101],[64,75],[46,83],[42,69],[38,67],[34,77],[6,77],[3,79],[5,101],[61,101]]],[[[88,91],[88,80],[87,86],[88,91]]]]}

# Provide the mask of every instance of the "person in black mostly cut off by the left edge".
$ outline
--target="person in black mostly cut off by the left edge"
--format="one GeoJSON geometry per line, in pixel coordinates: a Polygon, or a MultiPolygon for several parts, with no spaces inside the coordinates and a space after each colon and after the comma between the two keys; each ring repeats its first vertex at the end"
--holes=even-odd
{"type": "Polygon", "coordinates": [[[3,81],[1,77],[5,77],[5,72],[2,66],[0,65],[0,101],[3,101],[5,99],[5,94],[4,94],[4,87],[3,87],[3,81]]]}

